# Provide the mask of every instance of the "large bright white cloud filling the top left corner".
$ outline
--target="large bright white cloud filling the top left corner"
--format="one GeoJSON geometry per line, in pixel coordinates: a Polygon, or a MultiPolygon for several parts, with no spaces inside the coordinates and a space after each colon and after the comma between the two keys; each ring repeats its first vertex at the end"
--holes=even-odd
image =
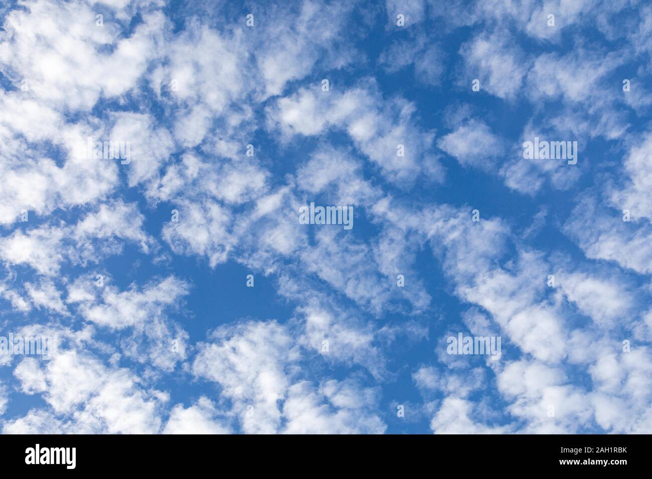
{"type": "Polygon", "coordinates": [[[119,96],[136,86],[156,56],[164,16],[151,12],[128,38],[111,22],[95,24],[82,2],[30,2],[5,19],[0,61],[16,83],[25,79],[33,98],[68,109],[93,108],[100,96],[119,96]],[[110,53],[106,46],[115,45],[110,53]],[[128,65],[128,68],[125,68],[128,65]]]}

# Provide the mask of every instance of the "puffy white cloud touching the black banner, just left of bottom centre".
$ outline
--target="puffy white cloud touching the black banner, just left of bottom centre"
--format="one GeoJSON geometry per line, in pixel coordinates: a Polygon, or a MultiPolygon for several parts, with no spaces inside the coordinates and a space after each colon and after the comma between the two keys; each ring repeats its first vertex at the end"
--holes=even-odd
{"type": "Polygon", "coordinates": [[[385,431],[373,412],[377,388],[351,380],[329,380],[318,388],[295,381],[301,351],[276,321],[220,327],[211,339],[200,344],[192,372],[219,383],[221,396],[232,402],[228,414],[246,433],[385,431]]]}

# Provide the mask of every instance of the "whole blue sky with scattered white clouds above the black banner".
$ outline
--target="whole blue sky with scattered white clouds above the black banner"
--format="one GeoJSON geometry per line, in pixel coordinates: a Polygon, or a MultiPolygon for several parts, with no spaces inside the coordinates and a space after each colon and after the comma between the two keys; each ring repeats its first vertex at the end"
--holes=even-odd
{"type": "Polygon", "coordinates": [[[57,340],[0,356],[3,433],[652,431],[649,5],[0,24],[0,336],[57,340]]]}

